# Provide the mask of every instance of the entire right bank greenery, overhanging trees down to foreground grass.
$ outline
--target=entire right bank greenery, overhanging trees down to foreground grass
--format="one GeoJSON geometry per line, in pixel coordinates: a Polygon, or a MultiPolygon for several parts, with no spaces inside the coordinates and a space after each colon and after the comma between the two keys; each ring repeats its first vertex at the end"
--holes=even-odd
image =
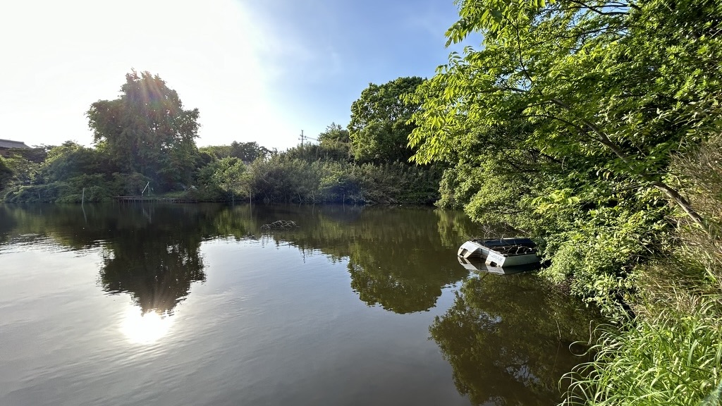
{"type": "Polygon", "coordinates": [[[440,205],[534,236],[542,273],[612,326],[567,403],[717,405],[722,6],[465,1],[409,101],[440,205]]]}

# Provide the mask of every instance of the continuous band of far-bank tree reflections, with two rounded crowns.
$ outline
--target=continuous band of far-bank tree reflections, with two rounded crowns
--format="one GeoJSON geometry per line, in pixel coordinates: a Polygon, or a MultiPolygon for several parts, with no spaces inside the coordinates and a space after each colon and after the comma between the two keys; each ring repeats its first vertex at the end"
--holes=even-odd
{"type": "MultiPolygon", "coordinates": [[[[192,283],[205,280],[200,244],[215,237],[274,241],[333,262],[348,259],[351,286],[361,301],[399,314],[425,311],[443,287],[466,276],[454,253],[472,227],[461,213],[356,206],[0,206],[0,219],[30,239],[50,238],[83,252],[100,247],[101,287],[129,293],[142,314],[171,314],[192,283]],[[279,219],[300,227],[261,230],[279,219]]],[[[3,235],[9,231],[0,230],[3,235]]]]}

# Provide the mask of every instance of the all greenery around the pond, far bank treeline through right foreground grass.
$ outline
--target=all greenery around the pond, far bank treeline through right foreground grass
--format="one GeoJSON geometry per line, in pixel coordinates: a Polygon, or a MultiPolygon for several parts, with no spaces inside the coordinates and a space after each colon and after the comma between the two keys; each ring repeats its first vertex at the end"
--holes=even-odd
{"type": "Polygon", "coordinates": [[[437,201],[535,238],[542,274],[611,320],[567,403],[717,404],[722,5],[456,4],[448,42],[482,46],[430,79],[370,85],[348,128],[332,124],[318,144],[198,150],[198,112],[133,72],[121,98],[88,112],[95,147],[0,160],[4,199],[78,202],[86,188],[103,200],[150,182],[197,200],[437,201]],[[138,100],[170,103],[170,116],[138,100]]]}

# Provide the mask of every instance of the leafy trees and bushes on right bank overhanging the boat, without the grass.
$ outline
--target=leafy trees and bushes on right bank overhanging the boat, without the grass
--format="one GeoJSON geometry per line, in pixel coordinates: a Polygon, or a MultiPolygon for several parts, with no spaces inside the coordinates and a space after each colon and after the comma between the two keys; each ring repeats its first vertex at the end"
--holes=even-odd
{"type": "Polygon", "coordinates": [[[409,101],[444,202],[538,236],[550,272],[600,304],[664,241],[665,202],[699,225],[671,158],[722,128],[716,1],[458,0],[452,53],[409,101]],[[494,217],[491,217],[493,215],[494,217]]]}

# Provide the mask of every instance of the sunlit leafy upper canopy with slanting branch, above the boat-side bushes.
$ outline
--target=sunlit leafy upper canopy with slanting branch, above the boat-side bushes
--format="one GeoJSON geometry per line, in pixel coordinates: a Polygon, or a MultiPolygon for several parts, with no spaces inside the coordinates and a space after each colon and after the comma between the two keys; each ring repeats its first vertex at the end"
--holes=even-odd
{"type": "MultiPolygon", "coordinates": [[[[719,128],[721,7],[713,1],[457,0],[483,50],[453,53],[422,85],[417,160],[448,157],[473,129],[531,124],[522,140],[556,160],[664,193],[703,219],[664,177],[669,158],[719,128]]],[[[420,100],[420,98],[412,98],[420,100]]]]}

